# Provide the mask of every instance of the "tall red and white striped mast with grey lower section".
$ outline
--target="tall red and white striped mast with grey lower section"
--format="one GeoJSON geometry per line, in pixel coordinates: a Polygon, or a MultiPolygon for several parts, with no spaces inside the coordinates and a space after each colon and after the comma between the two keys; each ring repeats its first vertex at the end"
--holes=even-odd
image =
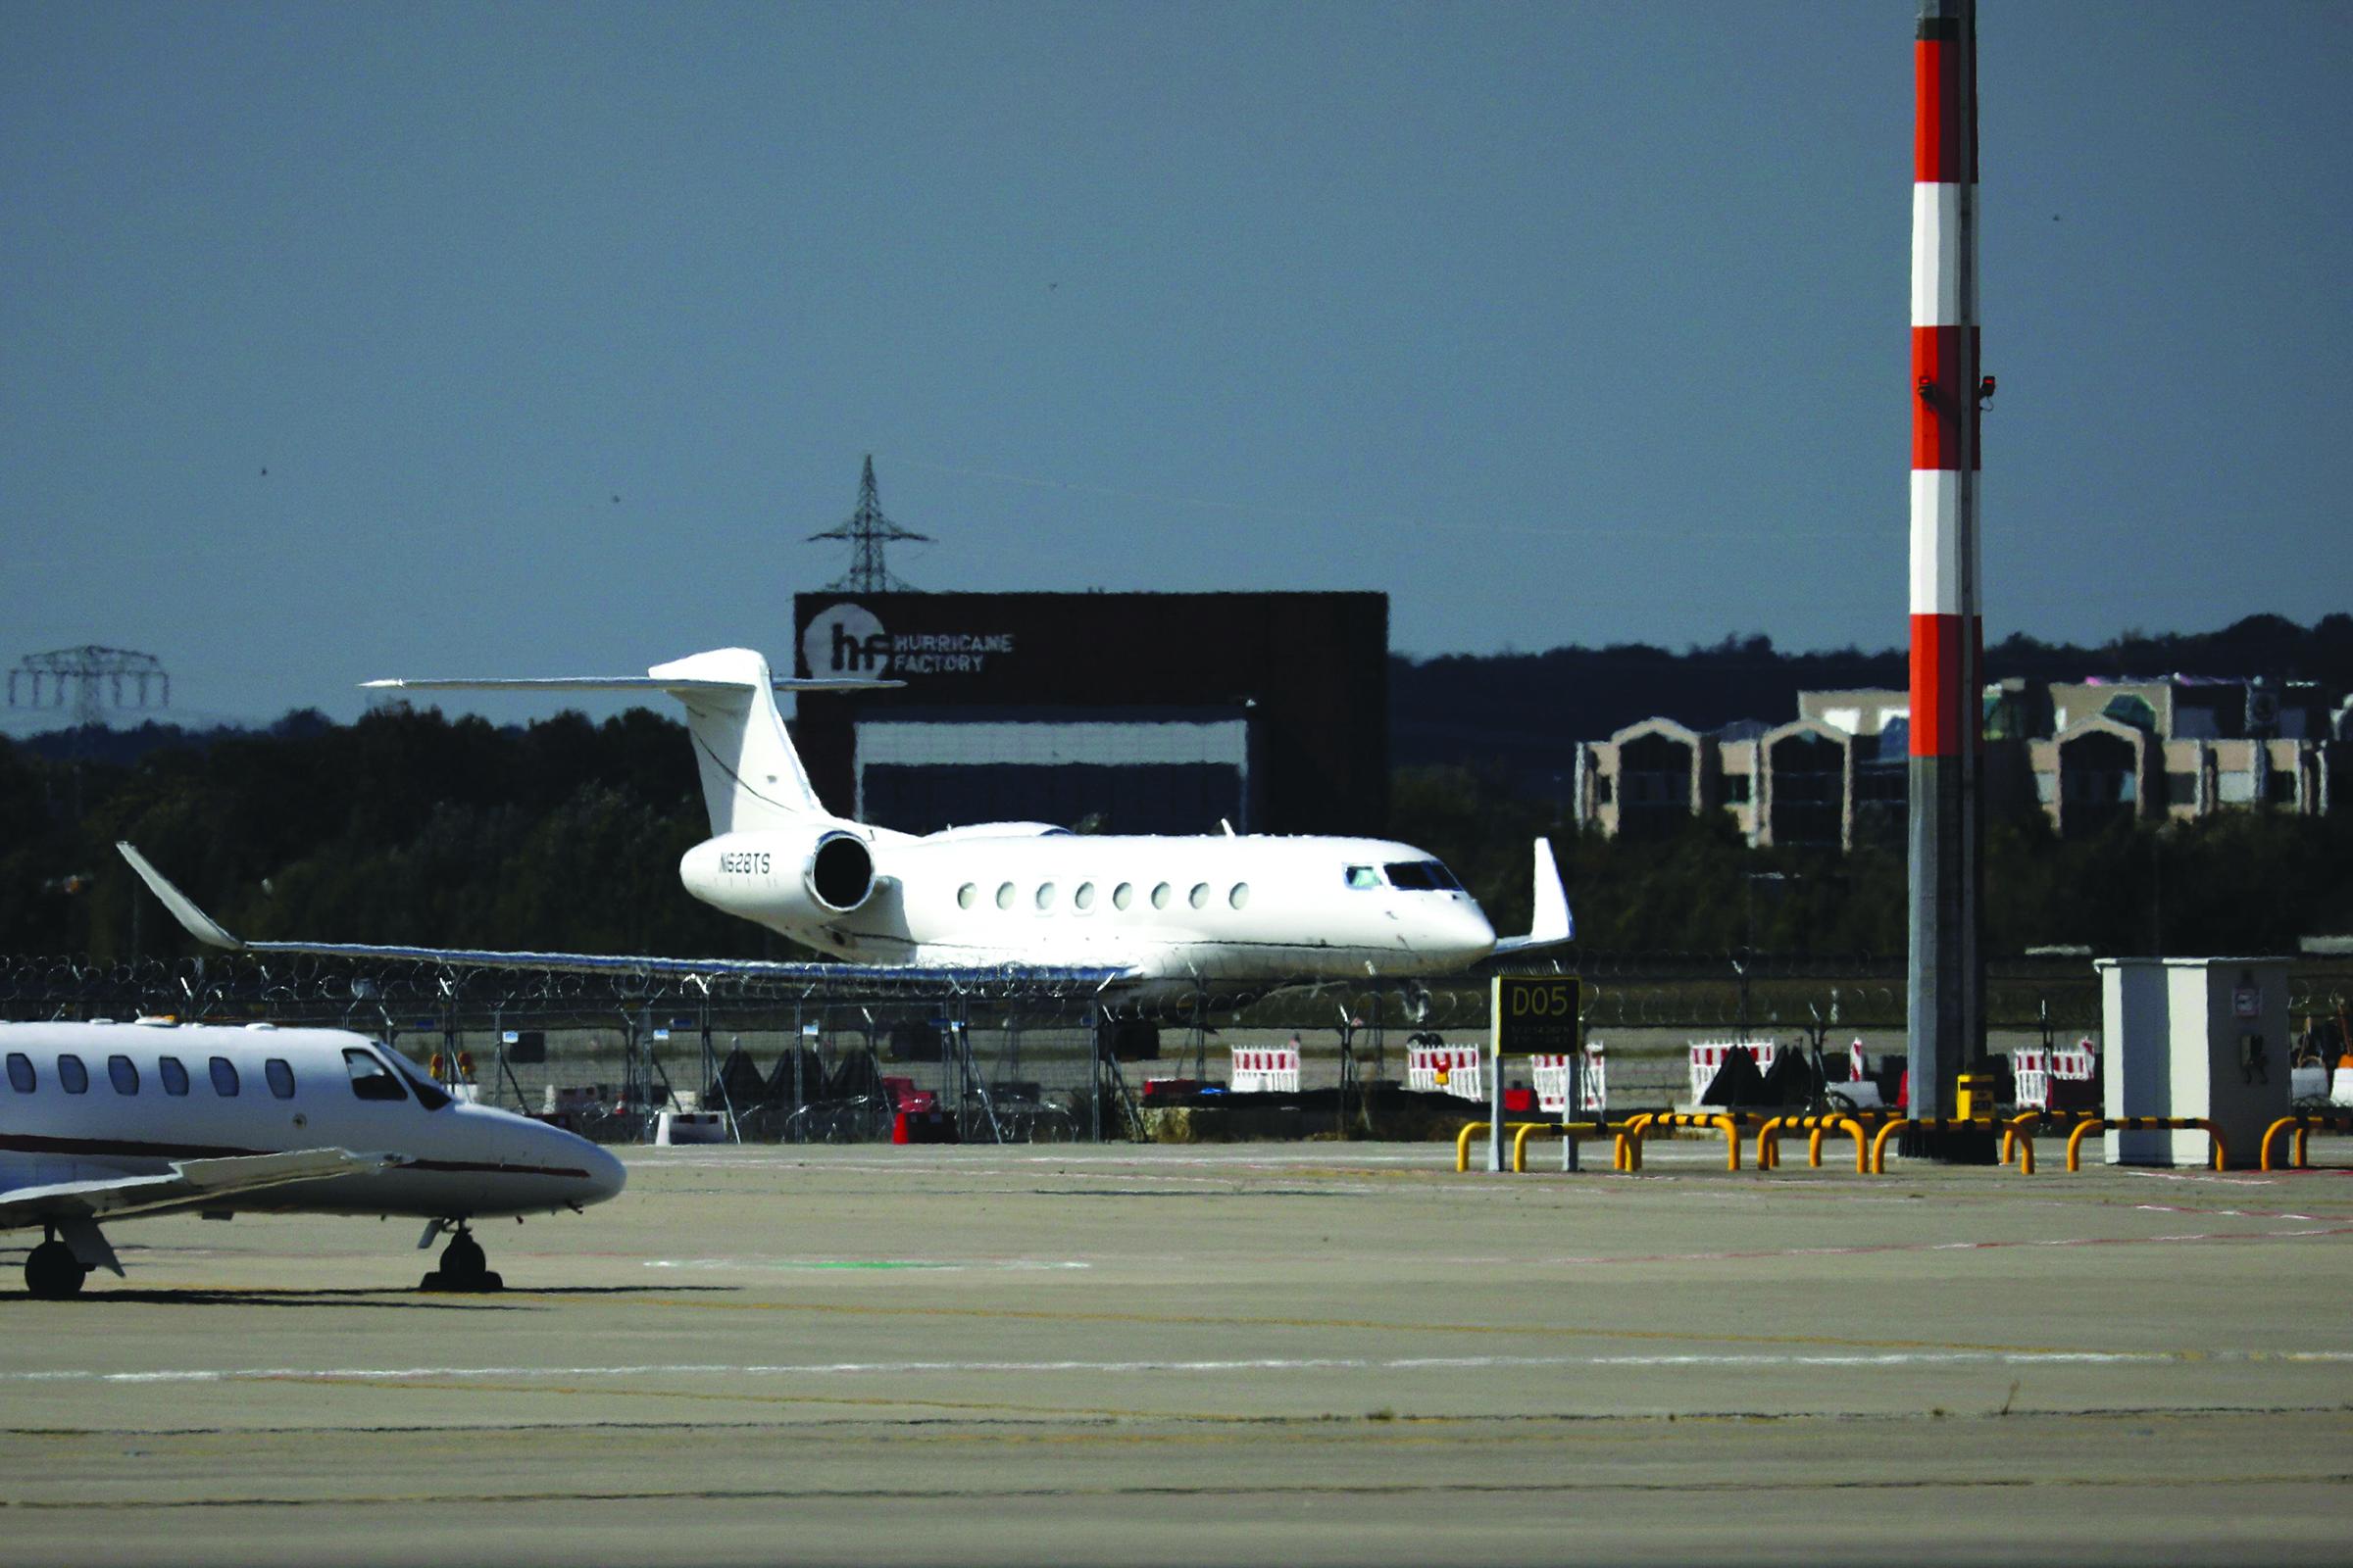
{"type": "Polygon", "coordinates": [[[1977,480],[1977,0],[1920,0],[1913,45],[1911,1114],[1951,1117],[1984,1053],[1977,480]]]}

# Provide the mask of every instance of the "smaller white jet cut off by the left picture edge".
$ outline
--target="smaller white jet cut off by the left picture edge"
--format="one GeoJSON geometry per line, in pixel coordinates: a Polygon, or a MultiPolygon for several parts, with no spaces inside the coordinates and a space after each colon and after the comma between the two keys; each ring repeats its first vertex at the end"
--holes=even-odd
{"type": "Polygon", "coordinates": [[[452,1100],[344,1030],[0,1023],[0,1229],[38,1225],[33,1295],[122,1274],[99,1220],[351,1213],[454,1229],[428,1291],[496,1291],[471,1220],[602,1204],[621,1161],[555,1126],[452,1100]]]}

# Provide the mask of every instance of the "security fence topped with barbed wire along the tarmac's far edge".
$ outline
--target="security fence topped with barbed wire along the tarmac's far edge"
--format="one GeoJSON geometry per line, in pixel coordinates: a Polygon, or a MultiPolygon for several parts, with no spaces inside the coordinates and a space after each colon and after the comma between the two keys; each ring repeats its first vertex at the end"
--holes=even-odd
{"type": "MultiPolygon", "coordinates": [[[[1612,1107],[1680,1098],[1701,1037],[1904,1048],[1892,959],[1569,950],[1560,966],[1584,976],[1584,1032],[1607,1041],[1612,1107]]],[[[2304,959],[2289,990],[2299,1020],[2339,1018],[2353,959],[2304,959]]],[[[656,1138],[671,1112],[673,1138],[1056,1143],[1141,1135],[1153,1079],[1224,1086],[1235,1048],[1292,1037],[1301,1091],[1339,1091],[1334,1126],[1362,1128],[1351,1095],[1402,1079],[1409,1041],[1485,1037],[1487,980],[1202,990],[1144,1020],[1106,1016],[1094,980],[1035,973],[948,985],[887,971],[781,980],[278,954],[0,957],[0,1018],[139,1016],[360,1030],[485,1103],[607,1140],[656,1138]]],[[[2073,1044],[2099,1030],[2099,980],[2085,957],[2000,961],[1986,1016],[1995,1051],[2073,1044]]]]}

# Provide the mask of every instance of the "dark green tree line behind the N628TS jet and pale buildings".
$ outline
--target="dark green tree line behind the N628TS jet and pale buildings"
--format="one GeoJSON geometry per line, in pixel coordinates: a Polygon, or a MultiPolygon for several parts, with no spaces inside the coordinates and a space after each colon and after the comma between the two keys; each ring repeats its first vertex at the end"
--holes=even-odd
{"type": "MultiPolygon", "coordinates": [[[[2353,686],[2353,616],[2259,616],[2205,637],[2066,649],[2012,637],[1995,675],[2217,670],[2353,686]],[[2106,661],[2106,663],[2101,663],[2106,661]]],[[[1529,785],[1518,741],[1607,736],[1666,712],[1708,726],[1795,712],[1819,686],[1901,686],[1901,654],[1553,649],[1393,663],[1391,837],[1442,856],[1525,929],[1529,842],[1551,837],[1579,938],[1612,952],[1899,957],[1901,846],[1748,849],[1729,820],[1657,842],[1584,832],[1529,785]],[[1445,715],[1445,717],[1440,717],[1445,715]],[[1442,736],[1449,736],[1440,741],[1442,736]]],[[[294,712],[266,731],[169,726],[0,743],[0,952],[179,954],[186,938],[115,856],[136,842],[231,931],[355,943],[788,957],[678,886],[708,835],[685,726],[633,710],[529,726],[388,708],[294,712]]],[[[1988,950],[2289,950],[2353,929],[2353,811],[2231,811],[2057,839],[1993,823],[1988,950]]]]}

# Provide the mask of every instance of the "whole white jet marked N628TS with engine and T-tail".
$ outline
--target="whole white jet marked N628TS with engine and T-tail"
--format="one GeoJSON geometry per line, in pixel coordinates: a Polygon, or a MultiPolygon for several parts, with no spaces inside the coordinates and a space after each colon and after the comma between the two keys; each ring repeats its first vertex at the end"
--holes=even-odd
{"type": "MultiPolygon", "coordinates": [[[[687,710],[711,839],[678,875],[704,903],[849,966],[944,980],[986,971],[1096,983],[1153,1001],[1292,983],[1457,973],[1494,952],[1572,936],[1546,839],[1534,846],[1527,936],[1487,914],[1433,856],[1384,839],[1080,837],[1045,823],[906,835],[833,816],[809,788],[776,689],[894,682],[774,679],[751,649],[715,649],[619,679],[384,679],[393,691],[666,691],[687,710]]],[[[398,957],[532,969],[807,976],[807,964],[565,952],[471,952],[240,940],[129,844],[120,846],[195,938],[252,952],[398,957]]]]}

